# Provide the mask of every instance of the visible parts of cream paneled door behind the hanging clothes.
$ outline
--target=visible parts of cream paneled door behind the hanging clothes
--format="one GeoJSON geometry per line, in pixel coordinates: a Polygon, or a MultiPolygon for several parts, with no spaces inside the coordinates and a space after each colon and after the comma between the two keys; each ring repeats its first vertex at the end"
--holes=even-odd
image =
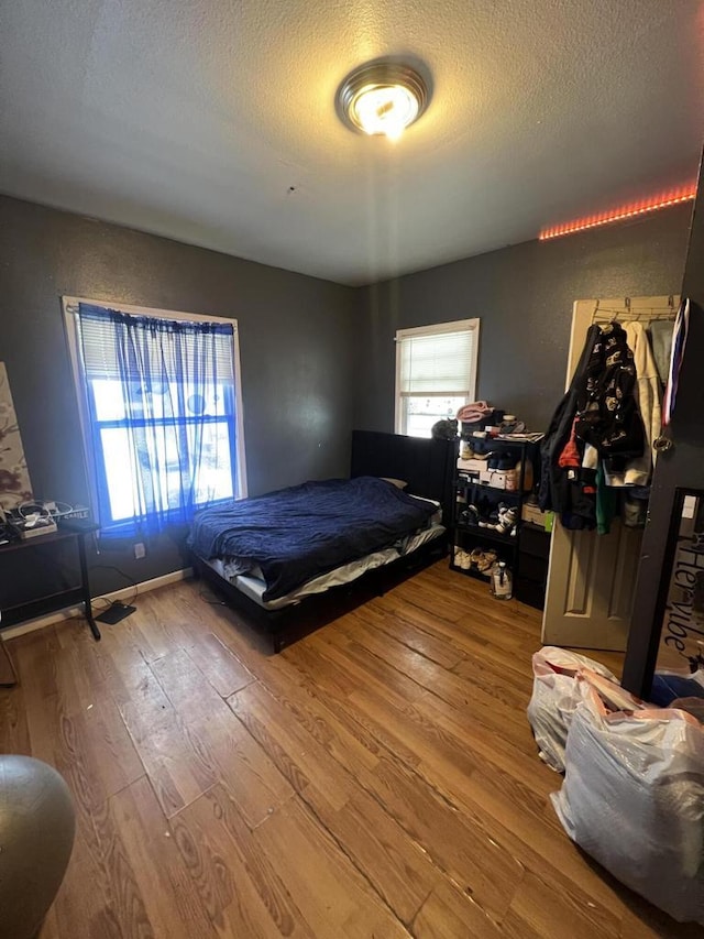
{"type": "MultiPolygon", "coordinates": [[[[597,317],[628,320],[674,310],[679,297],[578,301],[572,315],[566,385],[597,317]]],[[[569,532],[556,520],[550,546],[542,642],[623,652],[628,641],[642,531],[619,522],[610,534],[569,532]]]]}

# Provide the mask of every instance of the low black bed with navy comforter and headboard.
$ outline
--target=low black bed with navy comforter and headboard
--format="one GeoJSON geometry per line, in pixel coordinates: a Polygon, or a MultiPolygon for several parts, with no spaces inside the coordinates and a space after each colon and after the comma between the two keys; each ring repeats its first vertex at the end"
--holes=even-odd
{"type": "Polygon", "coordinates": [[[309,481],[197,513],[194,570],[275,652],[444,554],[454,447],[354,432],[349,480],[309,481]],[[399,481],[406,483],[399,485],[399,481]]]}

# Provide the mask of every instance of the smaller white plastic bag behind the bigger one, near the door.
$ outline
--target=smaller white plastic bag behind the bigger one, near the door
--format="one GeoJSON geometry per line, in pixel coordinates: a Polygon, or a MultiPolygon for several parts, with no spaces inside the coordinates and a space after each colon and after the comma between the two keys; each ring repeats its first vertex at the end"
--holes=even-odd
{"type": "Polygon", "coordinates": [[[584,697],[579,676],[585,668],[616,681],[608,668],[598,662],[564,648],[547,645],[532,657],[534,683],[528,720],[540,758],[558,773],[564,769],[564,746],[572,714],[584,697]]]}

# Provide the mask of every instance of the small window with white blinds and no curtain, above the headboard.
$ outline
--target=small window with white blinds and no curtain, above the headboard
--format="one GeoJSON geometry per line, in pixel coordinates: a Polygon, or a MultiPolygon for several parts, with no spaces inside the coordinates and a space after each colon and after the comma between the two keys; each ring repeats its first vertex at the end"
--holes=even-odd
{"type": "Polygon", "coordinates": [[[430,437],[475,400],[479,319],[459,319],[396,332],[396,433],[430,437]]]}

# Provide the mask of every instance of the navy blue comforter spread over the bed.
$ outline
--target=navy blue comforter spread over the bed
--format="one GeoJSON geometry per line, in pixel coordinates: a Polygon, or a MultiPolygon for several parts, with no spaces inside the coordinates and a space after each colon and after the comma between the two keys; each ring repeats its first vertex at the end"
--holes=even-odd
{"type": "Polygon", "coordinates": [[[196,514],[189,545],[202,558],[258,566],[264,600],[285,597],[319,574],[392,545],[436,509],[376,477],[305,482],[196,514]]]}

